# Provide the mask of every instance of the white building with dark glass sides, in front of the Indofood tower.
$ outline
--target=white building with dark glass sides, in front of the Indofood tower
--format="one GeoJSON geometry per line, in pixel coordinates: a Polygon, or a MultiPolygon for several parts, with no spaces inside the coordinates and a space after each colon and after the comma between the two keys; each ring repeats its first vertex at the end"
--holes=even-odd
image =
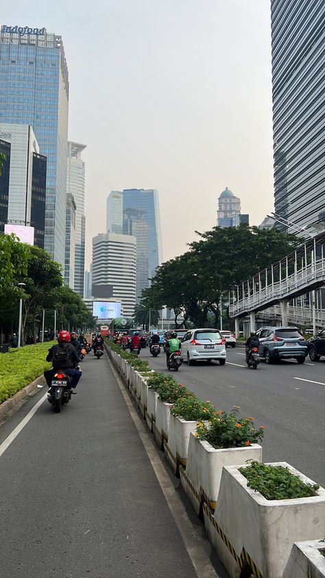
{"type": "Polygon", "coordinates": [[[0,232],[6,223],[34,227],[34,244],[44,248],[47,159],[32,126],[0,122],[0,152],[0,232]]]}

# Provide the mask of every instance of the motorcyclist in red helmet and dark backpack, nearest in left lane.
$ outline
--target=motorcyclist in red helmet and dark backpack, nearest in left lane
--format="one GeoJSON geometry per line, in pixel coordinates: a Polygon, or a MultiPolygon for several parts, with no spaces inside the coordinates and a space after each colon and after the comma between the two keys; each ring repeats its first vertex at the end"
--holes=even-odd
{"type": "Polygon", "coordinates": [[[80,380],[82,371],[78,366],[79,356],[75,347],[70,343],[70,334],[67,331],[60,331],[58,334],[58,345],[52,345],[47,354],[47,361],[51,361],[53,369],[47,369],[44,377],[47,385],[51,387],[51,380],[54,373],[61,369],[71,378],[71,388],[75,389],[80,380]]]}

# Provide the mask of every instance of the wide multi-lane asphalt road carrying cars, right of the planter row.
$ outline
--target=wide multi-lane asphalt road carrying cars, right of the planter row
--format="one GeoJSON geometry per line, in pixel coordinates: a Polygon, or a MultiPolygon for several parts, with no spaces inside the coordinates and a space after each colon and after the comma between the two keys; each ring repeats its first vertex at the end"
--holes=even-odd
{"type": "Polygon", "coordinates": [[[158,358],[149,348],[141,349],[141,358],[218,409],[240,406],[256,426],[265,426],[263,461],[287,461],[325,487],[325,358],[317,363],[307,358],[304,365],[261,362],[254,371],[245,365],[244,349],[228,348],[224,367],[218,362],[183,363],[178,373],[166,369],[163,349],[158,358]]]}

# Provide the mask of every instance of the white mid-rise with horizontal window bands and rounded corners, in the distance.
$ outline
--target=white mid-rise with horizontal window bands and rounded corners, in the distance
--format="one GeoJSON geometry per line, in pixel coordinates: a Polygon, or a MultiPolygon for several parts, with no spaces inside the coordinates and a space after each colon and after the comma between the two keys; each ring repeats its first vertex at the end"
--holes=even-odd
{"type": "Polygon", "coordinates": [[[111,289],[107,297],[121,299],[123,316],[132,317],[136,303],[135,237],[101,233],[93,238],[93,288],[96,286],[111,289]]]}

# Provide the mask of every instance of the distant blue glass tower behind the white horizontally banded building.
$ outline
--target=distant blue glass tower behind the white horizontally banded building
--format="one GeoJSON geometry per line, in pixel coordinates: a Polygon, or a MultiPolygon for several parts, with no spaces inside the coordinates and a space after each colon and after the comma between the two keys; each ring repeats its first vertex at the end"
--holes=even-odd
{"type": "MultiPolygon", "coordinates": [[[[143,239],[147,238],[147,251],[143,248],[143,261],[147,262],[147,276],[142,279],[144,273],[141,273],[141,279],[137,279],[137,286],[144,288],[149,286],[148,278],[154,277],[156,267],[160,265],[163,259],[161,232],[160,232],[160,211],[158,201],[158,191],[156,189],[123,189],[123,233],[134,235],[138,242],[143,244],[143,239]],[[133,209],[133,211],[132,211],[133,209]],[[141,211],[141,218],[139,218],[141,211]],[[130,220],[136,220],[134,227],[130,220]],[[141,227],[143,222],[143,227],[141,227]],[[136,225],[136,226],[135,226],[136,225]],[[145,252],[147,255],[145,255],[145,252]]],[[[140,274],[140,268],[139,268],[140,274]]],[[[136,295],[139,301],[141,295],[136,295]]]]}

